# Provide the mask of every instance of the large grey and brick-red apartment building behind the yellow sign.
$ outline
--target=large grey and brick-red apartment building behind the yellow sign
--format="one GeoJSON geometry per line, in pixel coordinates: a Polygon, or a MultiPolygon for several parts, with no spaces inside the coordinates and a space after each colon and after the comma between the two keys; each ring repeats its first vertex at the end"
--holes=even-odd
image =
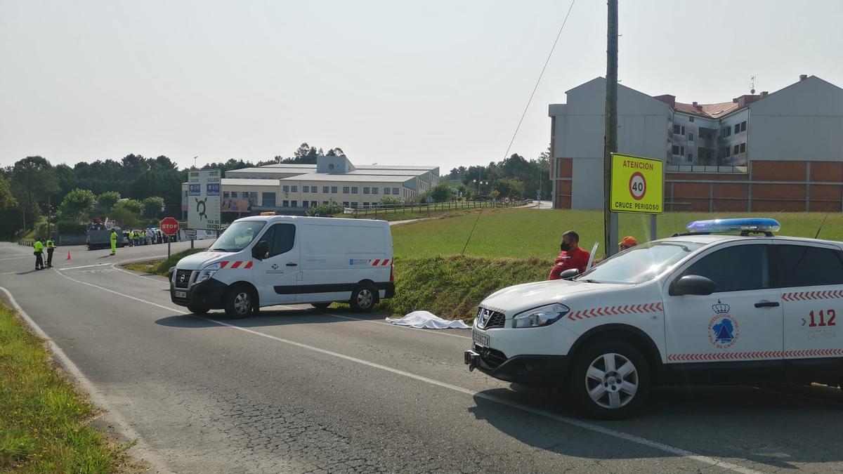
{"type": "MultiPolygon", "coordinates": [[[[605,79],[550,105],[557,208],[603,208],[605,79]]],[[[843,211],[843,89],[815,76],[731,102],[618,86],[618,151],[664,162],[668,211],[843,211]]]]}

